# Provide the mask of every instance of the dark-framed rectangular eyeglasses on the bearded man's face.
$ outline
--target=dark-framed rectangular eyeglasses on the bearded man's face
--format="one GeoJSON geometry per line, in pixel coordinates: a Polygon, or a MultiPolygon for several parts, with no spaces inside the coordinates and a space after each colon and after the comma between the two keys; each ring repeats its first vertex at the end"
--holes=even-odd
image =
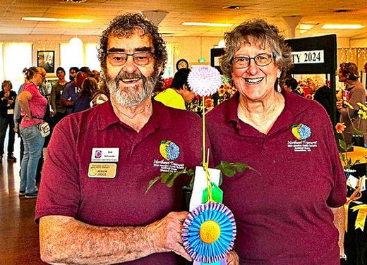
{"type": "Polygon", "coordinates": [[[107,54],[107,58],[109,63],[112,66],[124,66],[126,63],[128,56],[133,56],[133,61],[138,66],[146,66],[152,60],[152,52],[149,51],[138,51],[133,54],[126,54],[126,52],[116,51],[107,54]]]}

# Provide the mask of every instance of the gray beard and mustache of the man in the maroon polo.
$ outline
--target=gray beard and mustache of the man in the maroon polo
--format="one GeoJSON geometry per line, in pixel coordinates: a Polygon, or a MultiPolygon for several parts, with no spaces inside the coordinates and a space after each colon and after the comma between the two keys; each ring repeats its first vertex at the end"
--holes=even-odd
{"type": "MultiPolygon", "coordinates": [[[[115,79],[109,78],[108,76],[106,77],[107,88],[109,89],[111,97],[114,97],[114,99],[123,106],[136,106],[145,99],[148,99],[148,97],[151,97],[152,92],[155,89],[155,85],[158,82],[157,70],[154,70],[152,75],[148,78],[145,78],[145,76],[141,74],[138,75],[138,77],[143,81],[140,93],[136,93],[139,85],[128,88],[128,91],[122,91],[119,87],[119,82],[121,79],[124,79],[123,75],[124,74],[119,73],[115,79]]],[[[125,74],[125,76],[126,75],[128,74],[125,74]]],[[[133,75],[131,77],[127,76],[126,78],[137,78],[137,75],[133,75]]]]}

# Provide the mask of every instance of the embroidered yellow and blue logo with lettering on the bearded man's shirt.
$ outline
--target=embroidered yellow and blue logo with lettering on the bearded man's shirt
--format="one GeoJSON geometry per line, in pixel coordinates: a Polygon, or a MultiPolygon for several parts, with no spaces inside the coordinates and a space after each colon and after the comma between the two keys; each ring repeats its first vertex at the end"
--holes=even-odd
{"type": "Polygon", "coordinates": [[[160,142],[160,154],[164,159],[154,159],[153,166],[159,167],[161,172],[176,172],[185,168],[184,164],[174,162],[180,156],[180,147],[174,142],[162,140],[160,142]]]}

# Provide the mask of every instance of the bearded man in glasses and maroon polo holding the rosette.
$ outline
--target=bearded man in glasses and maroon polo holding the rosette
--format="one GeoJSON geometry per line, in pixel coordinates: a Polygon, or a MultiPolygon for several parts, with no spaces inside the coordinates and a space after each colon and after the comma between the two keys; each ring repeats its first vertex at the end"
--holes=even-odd
{"type": "MultiPolygon", "coordinates": [[[[162,172],[200,165],[200,118],[152,101],[167,61],[140,14],[112,20],[99,59],[110,101],[56,125],[37,200],[41,259],[52,264],[179,264],[181,185],[162,172]]],[[[181,257],[180,257],[181,256],[181,257]]]]}

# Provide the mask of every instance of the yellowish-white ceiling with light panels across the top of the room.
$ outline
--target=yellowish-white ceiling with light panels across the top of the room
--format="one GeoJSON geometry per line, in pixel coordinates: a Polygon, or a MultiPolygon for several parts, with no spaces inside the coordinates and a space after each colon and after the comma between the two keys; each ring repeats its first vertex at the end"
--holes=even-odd
{"type": "MultiPolygon", "coordinates": [[[[237,25],[248,18],[265,18],[288,36],[284,16],[301,16],[301,24],[315,24],[308,32],[296,37],[337,33],[338,37],[367,38],[366,0],[87,0],[70,3],[64,0],[0,0],[0,34],[17,35],[100,35],[109,20],[118,14],[138,11],[169,12],[160,23],[160,32],[179,37],[220,37],[230,28],[183,26],[181,23],[210,22],[237,25]],[[226,10],[224,6],[243,6],[226,10]],[[336,13],[340,9],[345,13],[336,13]],[[60,23],[22,21],[23,16],[52,18],[84,18],[92,23],[60,23]],[[362,30],[323,30],[325,23],[353,23],[366,25],[362,30]]],[[[367,45],[366,45],[367,46],[367,45]]]]}

